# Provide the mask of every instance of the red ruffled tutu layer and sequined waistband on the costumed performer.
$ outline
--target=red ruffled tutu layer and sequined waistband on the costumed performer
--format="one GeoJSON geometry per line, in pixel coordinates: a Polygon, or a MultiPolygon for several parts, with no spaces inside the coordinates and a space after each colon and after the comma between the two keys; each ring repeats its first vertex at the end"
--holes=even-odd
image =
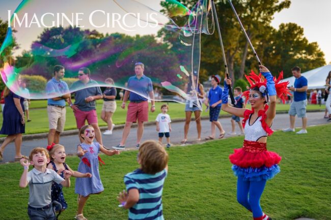
{"type": "Polygon", "coordinates": [[[272,167],[279,164],[281,156],[275,152],[268,151],[266,143],[244,140],[240,149],[234,149],[234,153],[229,156],[232,164],[241,168],[272,167]]]}

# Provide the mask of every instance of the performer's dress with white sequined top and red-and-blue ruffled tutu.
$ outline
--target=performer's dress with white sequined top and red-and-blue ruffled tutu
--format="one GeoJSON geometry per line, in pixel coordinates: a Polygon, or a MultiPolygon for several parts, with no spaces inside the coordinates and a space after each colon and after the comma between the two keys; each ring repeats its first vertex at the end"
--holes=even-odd
{"type": "Polygon", "coordinates": [[[261,137],[270,136],[273,131],[265,122],[265,110],[258,112],[258,118],[251,121],[254,110],[246,110],[242,121],[245,139],[243,146],[235,149],[229,156],[233,164],[232,170],[236,176],[241,176],[244,181],[260,181],[262,179],[271,179],[279,173],[279,163],[281,156],[275,152],[267,150],[267,144],[258,142],[261,137]]]}

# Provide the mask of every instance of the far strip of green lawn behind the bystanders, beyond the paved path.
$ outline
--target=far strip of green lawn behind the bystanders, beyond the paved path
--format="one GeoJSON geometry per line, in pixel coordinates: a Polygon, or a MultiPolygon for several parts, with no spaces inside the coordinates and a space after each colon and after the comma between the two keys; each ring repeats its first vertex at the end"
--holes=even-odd
{"type": "MultiPolygon", "coordinates": [[[[99,126],[105,126],[106,123],[101,120],[101,109],[102,109],[102,100],[97,101],[97,113],[98,113],[98,120],[99,126]]],[[[115,124],[124,124],[126,119],[126,111],[121,108],[122,102],[117,101],[117,110],[113,116],[113,120],[115,124]]],[[[163,102],[156,102],[156,111],[154,113],[149,113],[149,121],[154,121],[157,114],[160,113],[160,107],[164,104],[163,102]]],[[[169,115],[172,119],[176,118],[185,118],[185,105],[170,102],[169,104],[169,115]]],[[[30,118],[32,119],[31,122],[26,123],[25,127],[25,134],[37,134],[37,133],[45,133],[48,132],[48,116],[47,116],[47,101],[46,100],[32,100],[30,106],[30,118]]],[[[203,106],[205,109],[206,107],[203,106]]],[[[250,108],[250,107],[248,107],[250,108]]],[[[307,109],[310,110],[319,110],[324,109],[325,106],[318,106],[318,105],[308,105],[307,109]]],[[[289,109],[289,105],[279,104],[277,105],[277,111],[286,111],[289,109]]],[[[221,114],[227,114],[226,112],[221,111],[221,114]]],[[[203,111],[202,116],[208,116],[209,113],[203,111]]],[[[72,130],[76,129],[76,121],[73,115],[73,112],[70,107],[67,107],[67,119],[66,119],[66,126],[65,130],[72,130]]],[[[192,114],[194,116],[194,114],[192,114]]],[[[0,126],[2,125],[3,118],[0,117],[0,126]]],[[[3,135],[0,137],[4,137],[3,135]]]]}

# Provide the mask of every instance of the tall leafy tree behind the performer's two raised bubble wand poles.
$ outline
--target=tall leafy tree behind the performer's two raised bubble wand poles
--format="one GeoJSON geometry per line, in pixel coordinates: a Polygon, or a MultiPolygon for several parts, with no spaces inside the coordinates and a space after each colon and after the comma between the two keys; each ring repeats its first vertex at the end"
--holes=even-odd
{"type": "MultiPolygon", "coordinates": [[[[197,1],[182,0],[181,4],[188,8],[194,6],[197,1]]],[[[275,1],[275,0],[238,0],[232,2],[244,27],[247,35],[252,40],[253,45],[258,45],[268,33],[268,27],[272,20],[272,16],[276,12],[280,12],[284,8],[290,6],[290,1],[275,1]]],[[[234,13],[226,0],[215,1],[217,16],[219,19],[221,34],[225,47],[225,53],[228,63],[229,73],[232,80],[242,78],[246,65],[247,58],[251,58],[251,49],[247,43],[241,28],[238,24],[234,13]]],[[[164,12],[170,15],[171,10],[174,10],[175,5],[171,3],[163,3],[164,12]]],[[[179,25],[183,22],[178,21],[179,25]]],[[[220,50],[218,33],[215,32],[212,36],[203,35],[201,38],[201,70],[207,77],[212,74],[219,74],[224,77],[224,65],[222,52],[220,50]]],[[[257,66],[256,61],[251,61],[251,65],[257,66]]]]}

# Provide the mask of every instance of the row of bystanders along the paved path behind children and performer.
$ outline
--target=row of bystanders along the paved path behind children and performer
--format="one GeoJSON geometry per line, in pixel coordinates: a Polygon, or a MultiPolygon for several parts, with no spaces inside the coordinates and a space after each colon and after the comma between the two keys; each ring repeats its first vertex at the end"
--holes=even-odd
{"type": "MultiPolygon", "coordinates": [[[[148,105],[149,102],[146,97],[149,97],[151,102],[150,111],[155,111],[154,100],[161,100],[162,93],[157,87],[153,88],[152,81],[149,77],[144,75],[145,65],[141,62],[137,62],[134,66],[134,76],[130,77],[125,83],[126,89],[119,90],[119,97],[122,100],[122,108],[125,109],[126,102],[130,101],[127,110],[126,123],[123,130],[123,135],[120,143],[114,146],[114,149],[125,149],[125,142],[130,133],[130,128],[132,123],[137,122],[137,140],[136,147],[139,148],[141,140],[144,133],[144,122],[148,121],[148,105]],[[140,95],[130,91],[137,91],[140,95]]],[[[295,67],[292,69],[292,74],[296,78],[294,86],[290,86],[292,97],[290,98],[290,127],[284,129],[284,132],[293,132],[295,116],[297,115],[302,120],[302,130],[297,132],[298,134],[306,133],[307,127],[307,116],[306,116],[306,106],[309,102],[310,104],[322,104],[325,102],[325,115],[324,118],[327,121],[331,121],[331,96],[328,96],[330,88],[331,71],[325,81],[325,90],[322,92],[321,89],[312,90],[309,95],[308,93],[308,81],[301,75],[300,68],[295,67]],[[309,96],[309,98],[308,98],[309,96]]],[[[53,68],[52,78],[46,84],[46,90],[49,96],[53,94],[63,94],[61,97],[54,97],[47,100],[47,114],[49,122],[49,133],[47,144],[51,145],[60,143],[60,135],[64,132],[65,122],[66,122],[66,102],[73,110],[76,126],[79,130],[82,128],[86,122],[90,124],[95,130],[96,141],[103,144],[102,135],[112,135],[115,124],[113,123],[113,116],[116,111],[116,97],[117,90],[114,87],[114,80],[112,78],[107,78],[105,82],[109,84],[108,87],[102,92],[101,88],[97,86],[97,82],[91,79],[91,72],[88,68],[80,68],[78,70],[78,80],[74,82],[70,88],[68,84],[63,80],[65,76],[65,67],[56,65],[53,68]],[[74,92],[70,92],[74,91],[74,92]],[[74,102],[71,98],[74,96],[74,102]],[[101,134],[98,125],[98,115],[96,112],[96,100],[103,100],[103,106],[100,118],[107,123],[106,131],[101,134]]],[[[219,86],[220,77],[218,75],[211,76],[211,88],[206,92],[202,83],[199,82],[198,73],[194,71],[189,82],[185,84],[184,91],[189,97],[194,97],[197,99],[188,99],[185,104],[185,123],[184,123],[184,138],[181,141],[182,144],[187,142],[187,134],[189,129],[189,124],[191,121],[192,113],[195,116],[195,123],[197,127],[197,141],[201,140],[201,114],[203,109],[203,104],[207,106],[209,110],[210,122],[211,122],[211,134],[206,137],[206,140],[211,140],[217,138],[223,138],[225,131],[222,124],[218,121],[218,116],[220,108],[222,106],[222,87],[219,86]],[[216,136],[216,128],[219,131],[219,135],[216,136]]],[[[20,75],[17,75],[16,82],[17,86],[20,88],[21,95],[24,97],[29,97],[29,89],[26,88],[26,82],[21,79],[20,75]]],[[[240,87],[234,89],[235,95],[235,106],[237,108],[245,108],[245,99],[241,96],[242,90],[240,87]]],[[[22,98],[15,95],[8,87],[1,93],[1,106],[3,108],[3,124],[0,134],[7,135],[5,141],[0,147],[0,156],[2,157],[2,152],[5,147],[12,141],[15,142],[16,155],[15,160],[19,160],[22,157],[20,152],[22,143],[22,134],[25,132],[25,122],[29,122],[32,119],[29,114],[30,99],[22,98]]],[[[169,106],[167,106],[167,111],[169,106]]],[[[161,110],[163,114],[164,112],[161,110]]],[[[169,114],[167,114],[169,116],[169,114]]],[[[166,118],[166,117],[164,117],[166,118]]],[[[165,119],[164,119],[165,120],[165,119]]],[[[170,120],[170,116],[167,119],[170,120]]],[[[156,122],[160,122],[160,119],[156,119],[156,122]],[[159,121],[158,121],[159,120],[159,121]]],[[[232,131],[229,135],[236,135],[235,124],[238,124],[241,134],[244,134],[241,120],[236,116],[232,116],[231,125],[232,131]]],[[[169,122],[170,124],[170,122],[169,122]]],[[[158,127],[157,127],[158,128],[158,127]]],[[[171,128],[171,127],[170,127],[171,128]]],[[[168,131],[169,129],[167,129],[168,131]]],[[[167,138],[167,146],[170,147],[170,134],[168,132],[162,132],[163,135],[159,135],[159,139],[165,135],[167,138]],[[169,140],[168,140],[169,139],[169,140]]],[[[82,142],[82,139],[80,139],[82,142]]]]}

